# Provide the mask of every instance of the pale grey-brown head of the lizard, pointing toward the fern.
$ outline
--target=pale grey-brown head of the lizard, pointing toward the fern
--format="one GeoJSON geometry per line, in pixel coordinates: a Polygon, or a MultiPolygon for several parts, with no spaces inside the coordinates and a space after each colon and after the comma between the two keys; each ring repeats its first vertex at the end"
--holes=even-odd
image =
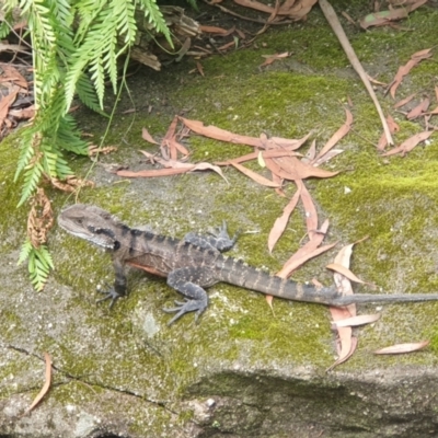
{"type": "Polygon", "coordinates": [[[70,234],[101,247],[115,250],[119,244],[114,229],[120,222],[107,211],[95,206],[76,204],[68,207],[59,215],[58,224],[70,234]]]}

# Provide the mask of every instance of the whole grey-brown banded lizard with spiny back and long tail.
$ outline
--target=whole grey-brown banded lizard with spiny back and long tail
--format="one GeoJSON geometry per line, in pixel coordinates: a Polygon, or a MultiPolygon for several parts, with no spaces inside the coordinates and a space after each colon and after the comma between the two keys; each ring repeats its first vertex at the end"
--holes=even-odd
{"type": "Polygon", "coordinates": [[[208,307],[205,289],[220,281],[286,300],[335,307],[438,300],[438,293],[344,296],[335,286],[316,287],[270,275],[222,254],[231,250],[237,241],[237,235],[229,237],[226,222],[211,235],[188,233],[178,240],[130,228],[96,206],[76,204],[61,211],[58,224],[70,234],[112,253],[114,285],[103,291],[105,297],[97,301],[110,299],[112,307],[117,298],[126,295],[126,265],[166,277],[168,285],[184,296],[184,301],[175,301],[174,308],[163,309],[174,313],[169,325],[188,312],[195,312],[197,321],[208,307]]]}

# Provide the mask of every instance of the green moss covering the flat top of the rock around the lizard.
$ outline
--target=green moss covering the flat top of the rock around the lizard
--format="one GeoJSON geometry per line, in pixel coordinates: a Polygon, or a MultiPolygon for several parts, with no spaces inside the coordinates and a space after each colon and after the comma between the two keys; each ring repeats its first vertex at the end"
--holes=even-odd
{"type": "MultiPolygon", "coordinates": [[[[336,10],[360,16],[364,7],[357,3],[337,2],[336,10]]],[[[346,22],[344,25],[370,76],[389,82],[413,53],[436,44],[437,22],[436,9],[425,7],[403,23],[406,31],[382,27],[362,32],[346,22]]],[[[244,23],[240,25],[245,27],[244,23]]],[[[382,130],[377,113],[316,8],[304,23],[270,28],[256,39],[256,47],[201,60],[205,77],[191,74],[195,61],[187,59],[160,73],[141,69],[130,78],[131,96],[122,97],[105,140],[105,146],[116,145],[118,151],[102,157],[101,163],[93,166],[90,177],[96,187],[82,191],[79,200],[96,204],[131,226],[150,224],[158,232],[177,237],[193,230],[206,231],[224,219],[231,232],[243,231],[233,256],[278,270],[281,262],[306,241],[306,228],[303,211],[298,209],[274,254],[268,254],[267,235],[287,203],[272,189],[257,186],[233,169],[224,170],[228,185],[209,173],[120,180],[107,173],[105,164],[145,166],[138,150],[157,148],[141,139],[141,128],[147,127],[160,138],[174,114],[251,136],[265,132],[300,138],[312,130],[312,138],[321,148],[344,123],[348,96],[354,103],[354,127],[338,145],[344,153],[325,165],[339,174],[331,180],[307,182],[318,205],[320,222],[326,218],[331,221],[326,241],[346,244],[368,235],[354,252],[351,267],[358,276],[393,293],[437,291],[437,136],[405,158],[379,155],[373,146],[382,130]],[[283,51],[290,51],[291,56],[260,69],[262,55],[283,51]],[[131,107],[136,113],[126,114],[131,107]]],[[[427,92],[434,97],[436,71],[434,55],[410,73],[399,97],[413,92],[427,92]]],[[[381,92],[379,97],[384,111],[390,111],[393,101],[381,92]]],[[[423,129],[418,123],[405,122],[402,114],[392,114],[401,125],[395,136],[397,143],[423,129]]],[[[79,122],[99,142],[105,120],[83,111],[79,122]]],[[[0,201],[8,212],[1,215],[0,223],[3,254],[18,249],[25,228],[24,210],[15,210],[18,186],[11,182],[16,160],[14,141],[0,143],[0,201]]],[[[187,140],[187,147],[193,162],[224,160],[251,151],[244,146],[196,136],[187,140]]],[[[90,162],[83,158],[71,160],[84,176],[90,162]]],[[[265,172],[255,164],[252,169],[265,172]]],[[[286,186],[285,191],[290,196],[293,186],[286,186]]],[[[64,194],[49,194],[57,212],[73,201],[72,197],[66,200],[64,194]]],[[[88,388],[116,388],[145,401],[159,402],[159,406],[173,406],[187,385],[215,370],[286,372],[295,367],[310,367],[322,376],[334,360],[334,337],[324,307],[275,300],[273,313],[262,296],[220,284],[210,289],[210,307],[200,324],[188,315],[168,327],[169,315],[161,308],[172,307],[178,297],[163,280],[146,281],[145,276],[130,273],[129,297],[110,311],[106,306],[95,306],[96,285],[113,278],[110,257],[60,230],[54,231],[49,243],[56,263],[51,283],[45,291],[32,292],[25,283],[25,268],[14,269],[7,286],[15,290],[14,285],[20,285],[21,289],[15,290],[15,298],[10,298],[5,289],[1,292],[5,307],[0,324],[4,343],[39,354],[49,350],[54,362],[66,373],[60,373],[61,381],[73,376],[88,388]],[[20,306],[23,293],[31,303],[26,309],[20,306]],[[61,315],[64,323],[57,315],[61,315]],[[145,328],[146,320],[158,327],[155,334],[150,335],[145,328]],[[14,331],[7,330],[11,325],[14,331]],[[33,330],[36,334],[30,336],[33,330]],[[35,342],[32,348],[31,341],[35,342]]],[[[336,250],[309,262],[295,278],[315,277],[330,284],[331,275],[324,266],[335,253],[336,250]]],[[[13,262],[13,257],[9,260],[13,262]]],[[[369,291],[366,286],[358,289],[369,291]]],[[[438,303],[364,306],[360,313],[377,309],[382,319],[357,331],[358,350],[342,366],[343,372],[437,366],[438,303]],[[425,338],[431,339],[425,351],[372,356],[379,347],[425,338]]],[[[2,379],[14,373],[11,365],[2,370],[2,379]]],[[[336,376],[337,371],[334,372],[336,376]]],[[[76,394],[78,387],[72,387],[76,394]]],[[[2,388],[8,394],[15,391],[7,384],[2,388]]],[[[24,379],[21,390],[26,388],[30,383],[24,379]]],[[[55,394],[66,403],[72,396],[62,385],[55,394]]],[[[171,412],[169,408],[166,415],[171,412]]],[[[183,419],[185,414],[181,415],[183,419]]],[[[157,427],[160,422],[157,419],[157,427]]],[[[132,429],[139,424],[142,423],[134,419],[132,429]]]]}

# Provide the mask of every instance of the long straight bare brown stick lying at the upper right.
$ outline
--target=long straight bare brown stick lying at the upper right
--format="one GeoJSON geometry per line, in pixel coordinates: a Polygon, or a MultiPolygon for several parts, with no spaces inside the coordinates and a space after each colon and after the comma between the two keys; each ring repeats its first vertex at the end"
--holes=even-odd
{"type": "Polygon", "coordinates": [[[392,140],[391,131],[388,126],[387,119],[384,118],[383,111],[379,104],[379,101],[377,100],[374,90],[371,87],[370,81],[368,80],[367,73],[364,70],[364,67],[361,66],[358,57],[355,54],[355,50],[353,49],[351,45],[349,44],[349,41],[347,38],[347,35],[345,35],[345,32],[342,27],[342,24],[336,15],[336,12],[332,8],[332,5],[328,3],[327,0],[319,0],[320,8],[322,12],[324,13],[328,24],[332,26],[333,32],[337,36],[337,39],[339,41],[345,54],[347,55],[348,60],[351,62],[353,68],[356,70],[357,74],[359,74],[359,78],[362,80],[365,88],[367,89],[369,95],[371,96],[372,102],[374,103],[376,110],[379,113],[380,120],[383,126],[384,135],[387,137],[388,145],[393,145],[394,141],[392,140]]]}

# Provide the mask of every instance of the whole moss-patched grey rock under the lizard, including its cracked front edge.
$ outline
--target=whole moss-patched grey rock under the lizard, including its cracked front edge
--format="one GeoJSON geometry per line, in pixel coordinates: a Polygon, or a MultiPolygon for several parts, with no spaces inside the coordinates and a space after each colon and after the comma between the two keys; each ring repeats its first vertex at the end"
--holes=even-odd
{"type": "MultiPolygon", "coordinates": [[[[411,25],[425,32],[417,38],[407,33],[391,36],[388,30],[350,31],[350,37],[369,69],[389,79],[412,53],[426,48],[426,31],[437,19],[434,10],[415,13],[411,25]]],[[[193,65],[160,74],[141,71],[131,82],[141,120],[124,115],[132,105],[124,100],[107,140],[119,151],[93,169],[89,177],[96,188],[82,192],[80,201],[100,205],[131,226],[150,223],[177,237],[226,219],[231,231],[244,231],[232,255],[276,272],[306,231],[303,215],[297,212],[274,256],[268,254],[269,229],[285,206],[270,189],[233,170],[226,172],[228,185],[217,175],[197,173],[120,181],[105,165],[145,166],[137,154],[139,145],[147,147],[140,143],[141,126],[149,124],[152,134],[162,136],[173,114],[191,107],[192,118],[240,134],[298,138],[312,127],[327,139],[343,123],[337,99],[348,94],[357,105],[359,136],[347,137],[344,155],[330,164],[343,173],[308,183],[320,217],[332,220],[326,239],[350,243],[369,234],[369,242],[355,253],[356,274],[389,292],[436,291],[436,140],[433,136],[430,147],[404,160],[377,155],[362,139],[379,138],[377,116],[358,79],[345,68],[343,54],[336,49],[338,58],[324,55],[328,48],[316,37],[318,32],[330,35],[324,26],[315,10],[304,24],[274,33],[270,39],[265,36],[269,53],[298,45],[298,61],[289,67],[285,60],[261,72],[263,59],[254,49],[203,61],[208,72],[203,79],[188,77],[193,65]],[[309,66],[297,72],[297,62],[309,66]]],[[[407,79],[406,94],[436,74],[426,67],[419,70],[407,79]]],[[[415,128],[402,123],[405,130],[415,128]]],[[[104,130],[102,119],[89,113],[81,126],[97,138],[104,130]]],[[[206,146],[197,138],[188,147],[193,161],[250,151],[206,146]]],[[[163,280],[132,270],[129,297],[112,310],[96,304],[96,287],[113,278],[110,258],[59,229],[49,242],[56,270],[45,290],[35,292],[26,266],[16,266],[26,223],[25,211],[14,209],[20,188],[12,183],[16,154],[12,138],[0,143],[0,438],[438,436],[437,303],[380,307],[382,319],[357,330],[356,354],[327,373],[335,339],[326,308],[276,300],[273,314],[262,296],[220,284],[210,289],[210,308],[199,324],[188,315],[168,327],[170,316],[161,309],[180,297],[163,280]],[[430,346],[413,355],[372,355],[379,347],[424,338],[430,346]],[[51,388],[23,416],[44,384],[44,351],[53,360],[51,388]]],[[[84,175],[89,163],[81,159],[76,165],[84,175]]],[[[287,194],[292,193],[293,186],[287,194]]],[[[59,193],[50,197],[56,211],[73,201],[59,193]]],[[[318,276],[330,283],[324,266],[334,254],[307,264],[297,278],[318,276]]],[[[361,313],[374,311],[373,306],[360,308],[361,313]]]]}

